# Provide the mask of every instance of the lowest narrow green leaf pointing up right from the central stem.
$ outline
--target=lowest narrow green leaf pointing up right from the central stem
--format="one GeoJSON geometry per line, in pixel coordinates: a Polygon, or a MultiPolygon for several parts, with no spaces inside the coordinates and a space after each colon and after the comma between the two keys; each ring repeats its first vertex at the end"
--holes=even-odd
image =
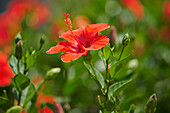
{"type": "Polygon", "coordinates": [[[123,89],[123,87],[131,81],[132,81],[132,79],[120,81],[120,82],[116,82],[116,83],[112,84],[109,87],[109,91],[108,91],[109,100],[111,99],[112,96],[117,96],[117,94],[123,89]]]}

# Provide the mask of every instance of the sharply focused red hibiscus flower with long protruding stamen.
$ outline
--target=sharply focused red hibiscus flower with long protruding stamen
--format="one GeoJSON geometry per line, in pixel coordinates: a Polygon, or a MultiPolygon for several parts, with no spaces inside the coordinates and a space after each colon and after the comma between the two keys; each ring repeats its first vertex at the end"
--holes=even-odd
{"type": "Polygon", "coordinates": [[[87,55],[89,50],[98,50],[109,43],[108,37],[98,34],[98,32],[109,28],[110,26],[108,24],[91,24],[77,30],[72,30],[68,19],[69,15],[64,16],[70,30],[62,33],[59,38],[66,39],[67,41],[59,42],[56,46],[51,47],[47,51],[47,54],[66,51],[61,54],[61,60],[63,62],[71,62],[81,56],[87,55]]]}

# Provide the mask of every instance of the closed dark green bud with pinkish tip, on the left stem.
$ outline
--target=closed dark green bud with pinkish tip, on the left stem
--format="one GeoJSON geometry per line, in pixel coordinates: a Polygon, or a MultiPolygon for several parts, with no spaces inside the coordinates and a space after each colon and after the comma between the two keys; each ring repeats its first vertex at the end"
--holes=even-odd
{"type": "Polygon", "coordinates": [[[22,50],[22,41],[19,40],[17,45],[16,45],[16,49],[15,49],[15,57],[20,60],[22,58],[22,53],[23,53],[23,50],[22,50]]]}

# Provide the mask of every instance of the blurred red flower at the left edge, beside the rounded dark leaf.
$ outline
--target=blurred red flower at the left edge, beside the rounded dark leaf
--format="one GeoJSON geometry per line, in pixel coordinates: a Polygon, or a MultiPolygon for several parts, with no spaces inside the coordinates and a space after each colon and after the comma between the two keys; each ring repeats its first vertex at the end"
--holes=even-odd
{"type": "Polygon", "coordinates": [[[0,87],[5,87],[11,84],[11,79],[15,75],[8,64],[8,56],[1,51],[0,56],[0,87]]]}

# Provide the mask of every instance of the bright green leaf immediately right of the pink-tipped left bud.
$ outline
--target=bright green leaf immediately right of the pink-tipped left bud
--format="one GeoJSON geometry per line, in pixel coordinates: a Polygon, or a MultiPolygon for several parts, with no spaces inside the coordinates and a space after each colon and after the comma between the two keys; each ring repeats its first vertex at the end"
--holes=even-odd
{"type": "Polygon", "coordinates": [[[39,51],[33,51],[31,55],[28,55],[27,53],[27,59],[26,59],[26,70],[31,68],[37,61],[37,57],[42,54],[42,50],[39,51]]]}

